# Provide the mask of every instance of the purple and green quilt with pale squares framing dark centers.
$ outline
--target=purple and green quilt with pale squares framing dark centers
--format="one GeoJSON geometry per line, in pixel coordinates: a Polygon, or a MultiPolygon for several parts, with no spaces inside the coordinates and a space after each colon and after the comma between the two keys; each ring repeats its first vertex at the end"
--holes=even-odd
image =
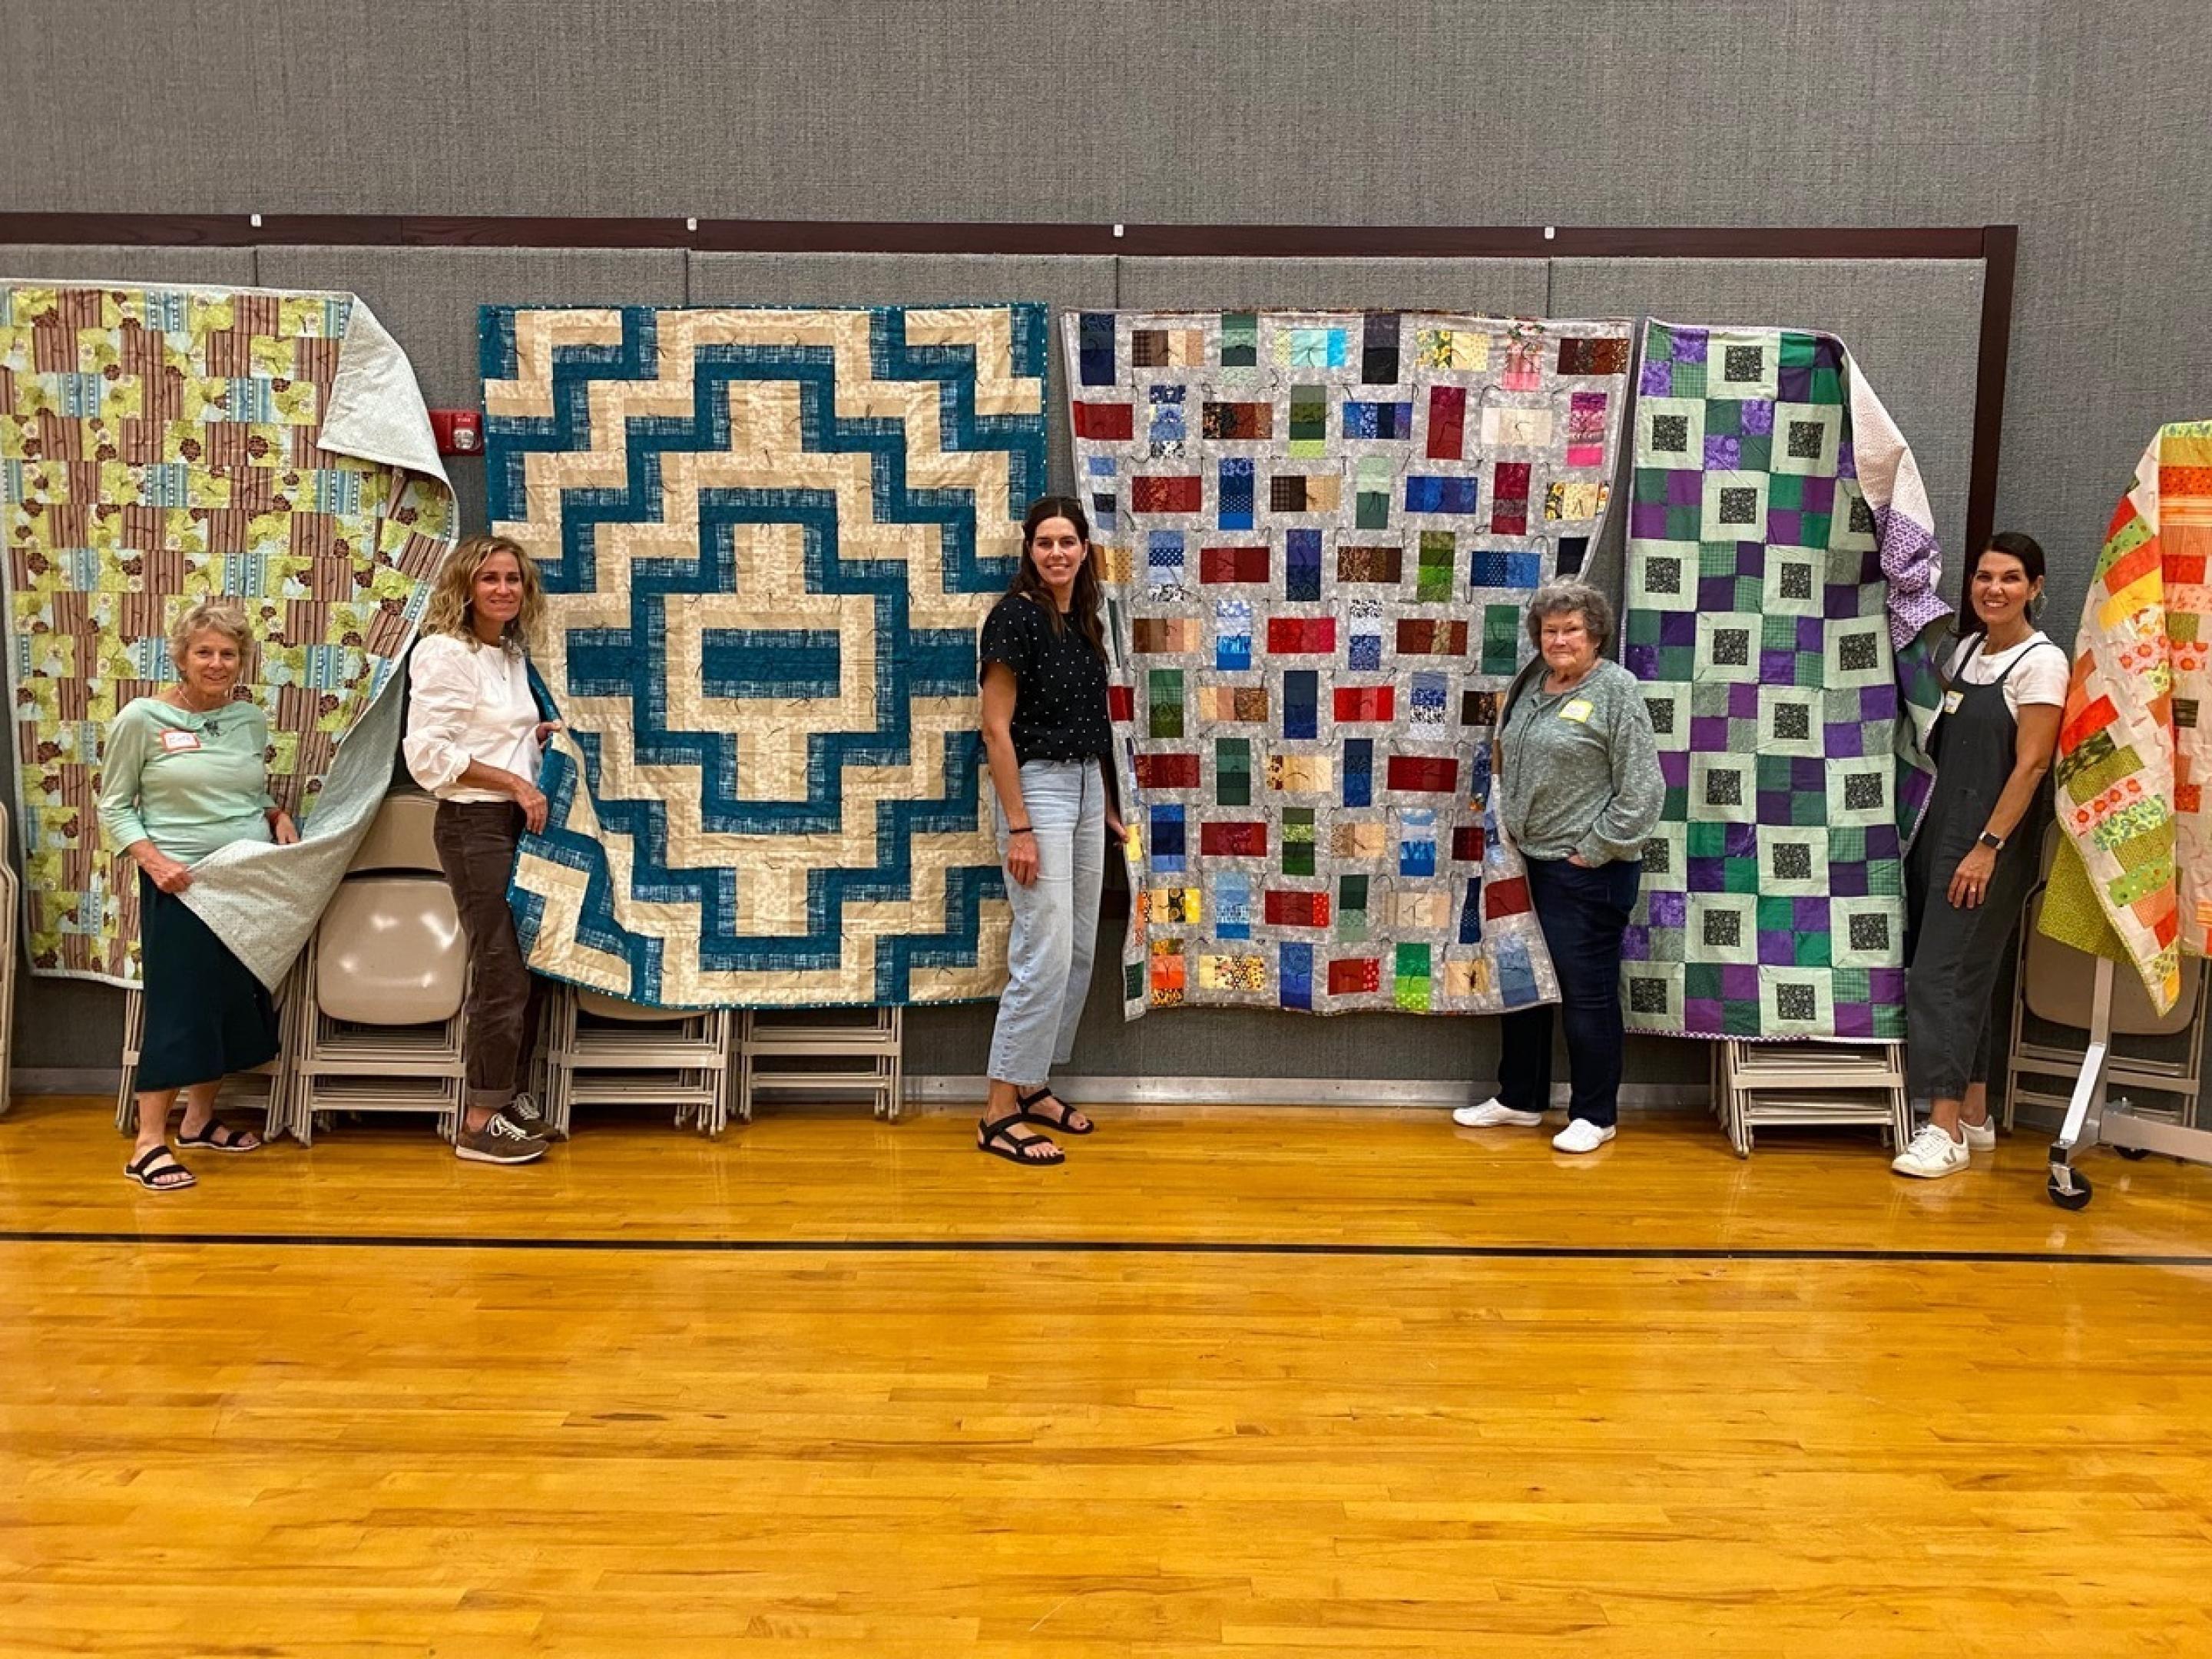
{"type": "Polygon", "coordinates": [[[1668,792],[1628,1024],[1902,1037],[1920,630],[1949,613],[1920,469],[1827,334],[1652,321],[1641,363],[1621,661],[1668,792]]]}

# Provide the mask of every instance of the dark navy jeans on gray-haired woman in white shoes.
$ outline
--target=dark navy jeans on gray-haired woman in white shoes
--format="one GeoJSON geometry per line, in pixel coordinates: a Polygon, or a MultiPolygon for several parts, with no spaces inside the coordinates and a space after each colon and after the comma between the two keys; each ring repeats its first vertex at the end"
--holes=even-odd
{"type": "MultiPolygon", "coordinates": [[[[1528,900],[1559,975],[1566,1022],[1568,1117],[1610,1128],[1621,1093],[1621,931],[1637,907],[1641,863],[1582,869],[1528,858],[1528,900]]],[[[1551,1106],[1551,1004],[1504,1015],[1498,1099],[1517,1113],[1551,1106]]]]}

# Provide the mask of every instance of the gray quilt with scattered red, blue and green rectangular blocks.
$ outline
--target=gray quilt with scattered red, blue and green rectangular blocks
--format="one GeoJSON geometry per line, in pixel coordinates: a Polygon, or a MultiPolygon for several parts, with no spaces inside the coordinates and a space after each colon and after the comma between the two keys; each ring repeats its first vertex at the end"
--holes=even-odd
{"type": "Polygon", "coordinates": [[[1522,608],[1606,509],[1630,325],[1064,319],[1113,635],[1124,1011],[1557,998],[1491,807],[1522,608]]]}

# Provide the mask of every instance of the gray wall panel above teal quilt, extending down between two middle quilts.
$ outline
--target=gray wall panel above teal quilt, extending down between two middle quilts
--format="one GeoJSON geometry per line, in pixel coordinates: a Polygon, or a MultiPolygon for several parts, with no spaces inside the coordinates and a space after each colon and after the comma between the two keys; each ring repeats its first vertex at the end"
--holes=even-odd
{"type": "Polygon", "coordinates": [[[1110,310],[1115,261],[1053,254],[692,254],[692,305],[956,305],[1044,301],[1051,487],[1075,487],[1068,394],[1060,369],[1060,314],[1110,310]]]}

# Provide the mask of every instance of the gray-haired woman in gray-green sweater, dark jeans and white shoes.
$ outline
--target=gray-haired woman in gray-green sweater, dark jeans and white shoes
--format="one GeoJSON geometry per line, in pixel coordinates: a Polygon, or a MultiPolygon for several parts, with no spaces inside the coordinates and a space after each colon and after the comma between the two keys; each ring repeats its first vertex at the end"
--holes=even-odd
{"type": "MultiPolygon", "coordinates": [[[[1553,971],[1573,1075],[1562,1152],[1613,1139],[1621,1091],[1621,933],[1637,907],[1644,841],[1666,781],[1635,675],[1599,653],[1613,606],[1588,582],[1546,582],[1528,599],[1537,661],[1506,692],[1498,737],[1498,818],[1528,867],[1528,900],[1553,971]]],[[[1551,1108],[1551,1006],[1504,1015],[1498,1093],[1462,1106],[1469,1128],[1537,1126],[1551,1108]]]]}

